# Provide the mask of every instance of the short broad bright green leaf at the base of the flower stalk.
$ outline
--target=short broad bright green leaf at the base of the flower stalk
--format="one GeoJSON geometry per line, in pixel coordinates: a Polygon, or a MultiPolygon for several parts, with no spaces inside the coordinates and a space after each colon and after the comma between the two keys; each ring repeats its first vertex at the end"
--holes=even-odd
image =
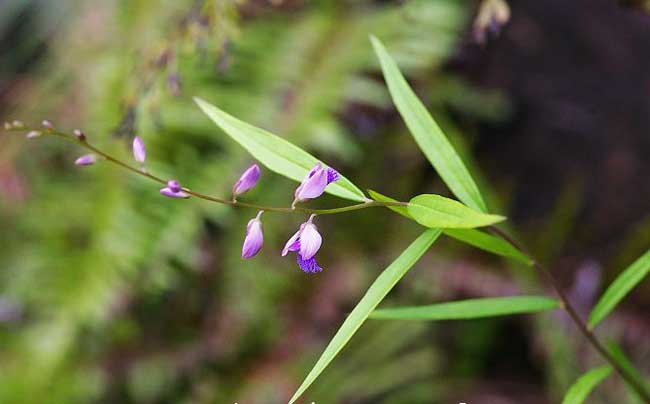
{"type": "Polygon", "coordinates": [[[411,199],[408,212],[416,222],[431,228],[473,228],[505,220],[503,216],[477,212],[458,201],[434,194],[411,199]]]}

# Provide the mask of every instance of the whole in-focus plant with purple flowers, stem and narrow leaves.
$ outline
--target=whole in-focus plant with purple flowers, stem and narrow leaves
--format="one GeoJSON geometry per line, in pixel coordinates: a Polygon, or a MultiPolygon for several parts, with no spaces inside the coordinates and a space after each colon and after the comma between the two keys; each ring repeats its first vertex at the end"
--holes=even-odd
{"type": "MultiPolygon", "coordinates": [[[[650,402],[650,396],[648,395],[644,383],[639,380],[636,372],[632,370],[633,368],[630,367],[629,363],[622,361],[620,355],[613,354],[604,348],[591,332],[591,329],[615,307],[615,305],[648,273],[648,271],[650,271],[650,259],[648,259],[648,257],[650,257],[650,251],[632,264],[632,266],[625,270],[621,276],[614,281],[590,315],[589,326],[583,323],[582,319],[579,317],[571,302],[558,286],[558,283],[550,272],[546,271],[530,257],[526,257],[527,259],[524,261],[532,264],[536,269],[548,277],[551,284],[556,289],[560,301],[534,296],[514,296],[375,311],[377,305],[390,292],[395,284],[399,282],[415,262],[436,241],[442,233],[442,229],[457,229],[455,230],[457,235],[455,237],[456,239],[461,241],[469,240],[468,244],[479,246],[485,250],[496,252],[504,256],[518,259],[522,255],[525,256],[525,253],[506,233],[494,226],[495,223],[502,221],[504,219],[503,217],[484,213],[486,211],[485,202],[460,157],[449,144],[445,135],[428,114],[425,107],[415,96],[384,46],[376,38],[373,37],[371,39],[373,46],[375,47],[375,52],[380,59],[393,101],[396,103],[400,114],[411,129],[418,145],[425,155],[427,155],[429,161],[452,192],[454,192],[459,199],[468,206],[440,195],[419,195],[412,198],[408,203],[397,202],[392,198],[380,196],[379,194],[375,194],[376,196],[379,196],[379,198],[374,201],[370,200],[362,191],[359,190],[358,187],[352,184],[345,177],[340,176],[336,171],[326,169],[326,166],[324,167],[322,162],[319,162],[299,147],[269,132],[248,125],[201,99],[196,99],[196,102],[203,112],[205,112],[218,126],[230,135],[230,137],[253,154],[260,163],[267,166],[272,171],[290,179],[300,180],[300,178],[303,178],[301,186],[296,190],[296,197],[291,207],[284,208],[256,205],[240,202],[236,199],[238,194],[238,185],[241,185],[242,183],[245,184],[243,185],[241,192],[250,190],[256,185],[259,179],[258,171],[247,170],[235,185],[235,195],[233,199],[228,200],[226,198],[208,196],[192,191],[189,188],[181,187],[177,181],[165,181],[162,178],[151,174],[145,168],[133,167],[91,145],[82,132],[75,131],[73,135],[66,134],[57,130],[49,121],[43,122],[42,129],[27,128],[19,121],[7,123],[5,129],[19,131],[27,130],[29,131],[27,135],[29,138],[39,137],[40,135],[45,134],[63,137],[66,140],[75,142],[94,152],[94,154],[85,155],[77,159],[77,165],[91,165],[97,162],[98,157],[102,157],[126,170],[156,181],[162,185],[167,185],[167,187],[161,189],[161,193],[165,196],[180,198],[194,196],[223,205],[259,209],[260,213],[257,218],[249,222],[249,233],[247,234],[246,240],[247,242],[249,241],[248,237],[252,235],[251,232],[257,232],[257,234],[252,235],[252,237],[255,238],[255,247],[253,247],[253,250],[250,253],[247,253],[246,247],[244,247],[242,253],[244,258],[251,258],[256,255],[261,248],[263,236],[261,233],[260,216],[262,212],[309,213],[311,214],[309,221],[302,225],[300,231],[289,240],[285,247],[285,251],[287,248],[299,250],[297,253],[298,263],[304,272],[321,271],[320,267],[315,264],[315,261],[313,261],[311,267],[305,266],[305,264],[301,262],[303,260],[312,259],[321,245],[321,236],[312,224],[312,220],[316,215],[345,213],[370,207],[387,207],[393,210],[398,210],[402,215],[415,220],[425,227],[429,227],[429,230],[426,230],[415,241],[413,241],[373,282],[365,296],[359,301],[339,331],[332,338],[320,359],[291,398],[290,403],[296,401],[307,390],[307,388],[318,378],[325,367],[341,351],[350,338],[369,317],[384,320],[453,320],[539,312],[556,309],[558,307],[567,311],[587,340],[602,355],[603,359],[609,362],[609,366],[591,370],[578,379],[575,385],[568,391],[564,402],[583,402],[589,394],[589,391],[609,375],[611,368],[616,369],[616,371],[625,379],[628,385],[642,400],[650,402]],[[312,168],[314,164],[316,164],[316,166],[312,168]],[[319,180],[319,178],[322,178],[322,180],[319,180]],[[330,183],[333,183],[332,186],[328,186],[330,183]],[[295,206],[296,202],[313,199],[320,196],[324,191],[345,199],[360,201],[361,203],[332,209],[307,209],[295,206]],[[305,197],[301,196],[302,193],[305,194],[305,197]],[[252,224],[258,227],[251,228],[252,224]],[[477,233],[476,230],[471,230],[475,227],[484,226],[490,226],[489,229],[494,233],[494,235],[481,232],[477,233]],[[307,229],[309,229],[309,235],[307,234],[307,229]],[[470,230],[461,231],[459,229],[470,230]],[[460,233],[458,233],[459,231],[460,233]],[[463,232],[467,233],[464,234],[463,232]],[[460,234],[460,236],[458,236],[458,234],[460,234]],[[507,247],[501,246],[504,242],[507,247]],[[294,244],[297,246],[294,247],[294,244]],[[317,270],[313,269],[314,265],[317,270]]],[[[134,140],[133,150],[136,161],[143,164],[145,161],[145,150],[144,144],[140,138],[134,140]]],[[[253,166],[252,168],[256,168],[256,166],[253,166]]]]}

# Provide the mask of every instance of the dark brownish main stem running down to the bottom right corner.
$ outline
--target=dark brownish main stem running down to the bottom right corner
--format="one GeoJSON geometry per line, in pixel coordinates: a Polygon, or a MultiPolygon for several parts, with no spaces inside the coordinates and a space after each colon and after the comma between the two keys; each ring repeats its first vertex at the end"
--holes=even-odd
{"type": "Polygon", "coordinates": [[[555,292],[557,293],[558,297],[562,301],[562,306],[566,310],[567,314],[573,322],[576,324],[582,335],[589,341],[589,343],[598,351],[598,353],[605,359],[616,371],[618,372],[619,375],[625,380],[625,382],[639,395],[639,397],[645,402],[650,404],[650,392],[648,392],[647,387],[643,385],[642,383],[637,380],[637,378],[631,374],[625,367],[621,366],[618,361],[612,356],[612,354],[605,348],[605,346],[600,342],[600,340],[596,337],[596,335],[587,327],[587,324],[580,318],[580,315],[578,314],[578,311],[576,308],[573,306],[571,301],[569,300],[569,297],[564,293],[562,290],[562,287],[560,286],[560,282],[558,282],[557,278],[551,271],[549,271],[546,267],[541,265],[537,260],[531,256],[531,254],[527,251],[527,249],[519,242],[517,242],[514,238],[512,238],[508,233],[504,232],[503,230],[499,229],[496,226],[490,226],[489,228],[492,233],[495,235],[501,237],[505,241],[509,242],[513,246],[517,247],[519,250],[521,250],[526,256],[528,256],[528,259],[530,259],[533,263],[533,267],[540,273],[542,273],[546,279],[549,281],[553,289],[555,289],[555,292]]]}

